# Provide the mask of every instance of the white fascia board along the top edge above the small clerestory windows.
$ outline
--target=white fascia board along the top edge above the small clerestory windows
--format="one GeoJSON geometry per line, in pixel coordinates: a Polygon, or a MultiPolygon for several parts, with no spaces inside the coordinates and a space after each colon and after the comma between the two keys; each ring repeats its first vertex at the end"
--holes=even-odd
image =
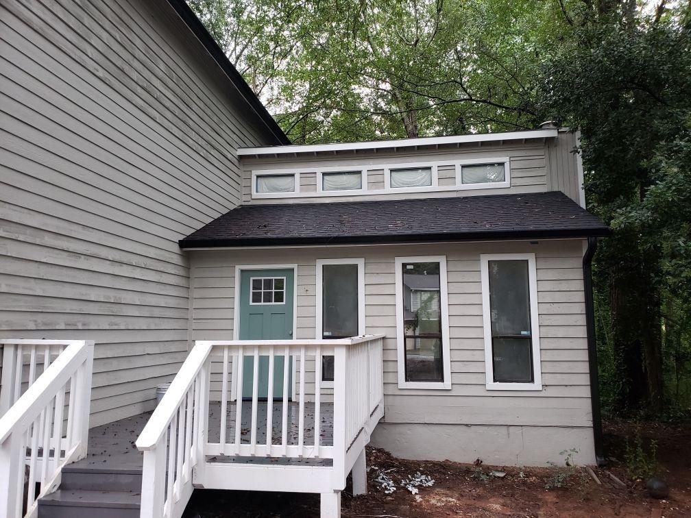
{"type": "Polygon", "coordinates": [[[505,133],[477,133],[471,135],[451,135],[448,137],[422,137],[417,139],[373,140],[370,142],[339,142],[337,144],[308,144],[297,146],[267,146],[258,148],[239,148],[238,157],[261,155],[292,155],[294,153],[321,153],[333,151],[357,151],[365,149],[408,148],[415,146],[440,146],[444,144],[463,144],[465,142],[491,142],[497,140],[523,140],[556,138],[558,128],[508,131],[505,133]]]}

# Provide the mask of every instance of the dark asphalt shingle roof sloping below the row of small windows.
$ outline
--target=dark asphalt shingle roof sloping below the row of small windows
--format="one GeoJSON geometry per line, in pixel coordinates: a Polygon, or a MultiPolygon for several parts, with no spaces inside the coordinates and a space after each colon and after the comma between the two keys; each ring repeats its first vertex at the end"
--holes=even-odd
{"type": "Polygon", "coordinates": [[[560,192],[243,205],[182,248],[606,236],[609,229],[560,192]]]}

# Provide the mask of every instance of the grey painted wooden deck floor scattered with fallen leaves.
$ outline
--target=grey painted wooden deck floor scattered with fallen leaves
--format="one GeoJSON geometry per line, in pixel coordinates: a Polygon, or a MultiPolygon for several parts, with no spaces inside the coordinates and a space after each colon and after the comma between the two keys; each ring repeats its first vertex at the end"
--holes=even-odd
{"type": "MultiPolygon", "coordinates": [[[[236,403],[229,402],[227,410],[227,437],[234,437],[236,403]]],[[[298,441],[299,426],[299,404],[297,402],[288,403],[288,445],[296,445],[298,441]]],[[[321,403],[321,444],[325,446],[333,445],[333,405],[332,403],[321,403]]],[[[141,472],[143,454],[135,447],[135,441],[144,429],[144,425],[149,421],[151,412],[138,414],[136,416],[114,421],[106,425],[97,426],[89,430],[88,452],[86,459],[78,461],[73,466],[90,468],[108,468],[122,472],[141,472]]],[[[242,428],[240,437],[243,443],[249,443],[250,424],[252,416],[252,402],[244,401],[242,410],[242,428]]],[[[260,401],[257,411],[257,440],[266,443],[266,418],[267,402],[260,401]]],[[[281,423],[283,421],[283,405],[281,402],[273,403],[273,434],[272,443],[281,443],[281,423]]],[[[314,443],[314,403],[305,403],[305,443],[314,443]]],[[[212,401],[209,403],[209,441],[218,442],[220,437],[220,403],[212,401]]],[[[208,457],[209,462],[218,463],[252,463],[252,464],[274,464],[278,466],[301,465],[301,466],[331,466],[330,459],[292,459],[292,458],[271,458],[271,457],[208,457]]]]}

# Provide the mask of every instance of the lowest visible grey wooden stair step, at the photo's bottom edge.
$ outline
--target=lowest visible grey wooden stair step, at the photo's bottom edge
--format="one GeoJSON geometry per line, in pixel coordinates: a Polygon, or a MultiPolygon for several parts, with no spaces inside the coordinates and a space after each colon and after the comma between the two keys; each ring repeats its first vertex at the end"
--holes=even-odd
{"type": "Polygon", "coordinates": [[[59,489],[39,499],[39,518],[136,518],[141,495],[133,491],[59,489]]]}

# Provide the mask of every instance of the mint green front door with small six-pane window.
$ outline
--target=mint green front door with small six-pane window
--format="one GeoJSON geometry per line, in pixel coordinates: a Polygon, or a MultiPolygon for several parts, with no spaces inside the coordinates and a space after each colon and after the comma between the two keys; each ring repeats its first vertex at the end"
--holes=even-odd
{"type": "MultiPolygon", "coordinates": [[[[294,271],[292,269],[240,271],[240,340],[292,340],[294,271]]],[[[274,399],[283,399],[285,358],[274,361],[274,399]]],[[[290,358],[289,358],[290,361],[290,358]]],[[[243,363],[243,399],[252,399],[254,357],[243,363]]],[[[288,397],[292,365],[288,365],[288,397]]],[[[259,357],[258,395],[269,397],[269,357],[259,357]]]]}

